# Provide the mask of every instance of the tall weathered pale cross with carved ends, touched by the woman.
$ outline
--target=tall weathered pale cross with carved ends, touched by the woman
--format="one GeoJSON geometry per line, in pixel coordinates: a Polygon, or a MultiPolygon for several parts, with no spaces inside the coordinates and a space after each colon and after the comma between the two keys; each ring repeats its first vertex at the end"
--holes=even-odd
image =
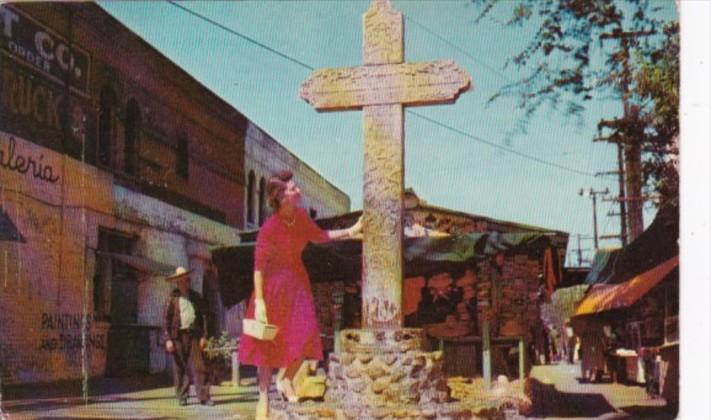
{"type": "Polygon", "coordinates": [[[373,0],[363,15],[364,66],[318,69],[301,97],[319,111],[363,109],[362,328],[402,327],[404,105],[447,103],[469,89],[452,61],[404,63],[402,13],[373,0]]]}

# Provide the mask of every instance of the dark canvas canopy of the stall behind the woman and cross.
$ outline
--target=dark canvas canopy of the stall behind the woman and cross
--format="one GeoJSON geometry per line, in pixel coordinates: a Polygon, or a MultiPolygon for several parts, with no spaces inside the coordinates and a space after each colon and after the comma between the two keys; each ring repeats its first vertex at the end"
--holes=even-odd
{"type": "MultiPolygon", "coordinates": [[[[463,271],[468,265],[500,252],[543,255],[550,247],[546,233],[473,233],[446,237],[407,238],[403,257],[405,278],[463,271]]],[[[302,259],[312,282],[357,282],[361,277],[360,240],[309,244],[302,259]]],[[[552,254],[556,254],[555,252],[552,254]]],[[[252,293],[254,243],[216,249],[223,304],[235,305],[252,293]]]]}

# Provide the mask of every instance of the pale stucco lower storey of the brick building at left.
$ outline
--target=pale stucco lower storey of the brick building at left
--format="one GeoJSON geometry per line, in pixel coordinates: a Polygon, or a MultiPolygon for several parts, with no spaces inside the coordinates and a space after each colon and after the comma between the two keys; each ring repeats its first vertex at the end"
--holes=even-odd
{"type": "MultiPolygon", "coordinates": [[[[209,248],[237,244],[237,230],[116,186],[103,171],[0,132],[4,157],[11,137],[15,156],[41,154],[57,180],[0,168],[0,206],[24,238],[0,242],[0,374],[6,383],[80,377],[86,313],[89,373],[102,375],[110,324],[93,316],[99,228],[134,235],[137,256],[195,268],[192,285],[199,291],[209,248]]],[[[172,287],[159,275],[139,278],[137,322],[156,327],[149,339],[151,372],[167,367],[158,331],[172,287]]]]}

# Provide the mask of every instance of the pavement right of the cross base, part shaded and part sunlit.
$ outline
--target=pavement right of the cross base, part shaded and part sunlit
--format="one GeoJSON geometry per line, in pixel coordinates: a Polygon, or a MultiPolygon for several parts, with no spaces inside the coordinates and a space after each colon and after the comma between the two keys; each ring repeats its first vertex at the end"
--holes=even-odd
{"type": "Polygon", "coordinates": [[[534,366],[530,418],[674,419],[663,399],[650,398],[641,385],[582,383],[580,365],[534,366]]]}

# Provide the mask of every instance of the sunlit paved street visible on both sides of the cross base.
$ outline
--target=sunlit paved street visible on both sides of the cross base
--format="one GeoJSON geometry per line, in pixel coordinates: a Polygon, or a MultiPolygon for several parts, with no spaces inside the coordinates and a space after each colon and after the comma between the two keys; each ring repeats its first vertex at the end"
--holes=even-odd
{"type": "MultiPolygon", "coordinates": [[[[651,399],[641,386],[579,383],[579,365],[534,366],[531,371],[533,408],[530,418],[673,419],[664,401],[651,399]]],[[[3,390],[3,413],[15,419],[251,419],[256,388],[212,387],[216,405],[202,407],[191,399],[179,407],[164,377],[103,379],[92,386],[88,405],[76,382],[23,386],[3,390]]],[[[4,420],[4,419],[3,419],[4,420]]]]}

